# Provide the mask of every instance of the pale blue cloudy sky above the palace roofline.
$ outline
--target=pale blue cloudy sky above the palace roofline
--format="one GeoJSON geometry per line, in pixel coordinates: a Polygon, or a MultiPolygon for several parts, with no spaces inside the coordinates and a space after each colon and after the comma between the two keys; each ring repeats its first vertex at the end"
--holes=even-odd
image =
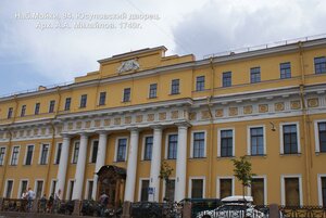
{"type": "Polygon", "coordinates": [[[72,81],[118,53],[165,46],[200,60],[326,34],[325,21],[325,0],[1,0],[0,95],[72,81]]]}

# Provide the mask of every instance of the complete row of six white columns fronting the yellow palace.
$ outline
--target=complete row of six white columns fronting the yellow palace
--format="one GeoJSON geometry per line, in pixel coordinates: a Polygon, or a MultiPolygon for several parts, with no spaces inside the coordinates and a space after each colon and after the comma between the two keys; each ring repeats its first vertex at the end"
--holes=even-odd
{"type": "MultiPolygon", "coordinates": [[[[185,198],[186,193],[186,170],[187,170],[187,130],[188,123],[177,124],[178,126],[178,145],[177,145],[177,158],[176,158],[176,185],[175,185],[175,200],[180,201],[185,198]]],[[[162,153],[162,132],[164,126],[156,125],[151,127],[153,129],[153,145],[152,145],[152,158],[150,169],[150,188],[153,188],[154,194],[149,194],[149,201],[159,202],[160,197],[160,169],[161,169],[161,153],[162,153]]],[[[136,179],[137,179],[137,159],[138,159],[138,146],[139,146],[139,128],[127,129],[130,131],[129,145],[126,151],[127,155],[127,177],[124,201],[135,201],[136,179]]],[[[108,136],[110,130],[100,130],[93,133],[99,134],[99,144],[97,161],[95,166],[95,172],[97,172],[102,166],[105,165],[105,154],[108,146],[108,136]]],[[[75,172],[75,184],[73,189],[72,200],[83,198],[84,177],[87,161],[87,145],[88,137],[90,133],[79,133],[80,145],[78,151],[78,159],[75,172]]],[[[59,170],[58,170],[58,183],[55,187],[55,193],[61,190],[61,198],[64,198],[66,171],[68,165],[68,152],[71,138],[74,134],[62,134],[62,152],[60,156],[59,170]]],[[[115,151],[116,152],[116,151],[115,151]]],[[[98,176],[93,176],[92,193],[93,200],[97,200],[97,187],[98,176]]]]}

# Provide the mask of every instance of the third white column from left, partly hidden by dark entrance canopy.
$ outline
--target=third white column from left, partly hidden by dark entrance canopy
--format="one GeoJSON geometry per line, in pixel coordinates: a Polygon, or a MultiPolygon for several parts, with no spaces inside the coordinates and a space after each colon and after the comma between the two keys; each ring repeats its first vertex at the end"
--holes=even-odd
{"type": "MultiPolygon", "coordinates": [[[[99,148],[98,148],[95,172],[98,172],[100,168],[105,164],[108,132],[101,131],[99,133],[100,133],[99,148]]],[[[91,197],[95,201],[97,201],[97,189],[98,189],[98,175],[95,175],[93,182],[92,182],[92,193],[91,193],[91,197]]]]}

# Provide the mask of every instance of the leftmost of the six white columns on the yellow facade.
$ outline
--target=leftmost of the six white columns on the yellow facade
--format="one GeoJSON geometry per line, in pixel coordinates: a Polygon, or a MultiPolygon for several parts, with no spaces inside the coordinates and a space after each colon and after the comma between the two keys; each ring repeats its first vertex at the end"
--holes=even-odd
{"type": "Polygon", "coordinates": [[[60,163],[59,163],[59,169],[57,175],[58,183],[55,187],[55,193],[59,193],[60,190],[61,200],[63,200],[66,167],[68,163],[68,153],[70,153],[70,144],[71,144],[71,138],[68,134],[63,134],[62,137],[63,137],[63,142],[61,146],[60,163]]]}

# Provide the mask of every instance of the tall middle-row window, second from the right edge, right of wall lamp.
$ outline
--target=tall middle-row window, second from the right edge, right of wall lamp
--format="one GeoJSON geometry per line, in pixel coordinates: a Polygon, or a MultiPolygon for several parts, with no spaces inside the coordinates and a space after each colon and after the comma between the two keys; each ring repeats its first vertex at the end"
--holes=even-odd
{"type": "Polygon", "coordinates": [[[297,125],[283,126],[284,154],[298,154],[297,125]]]}

